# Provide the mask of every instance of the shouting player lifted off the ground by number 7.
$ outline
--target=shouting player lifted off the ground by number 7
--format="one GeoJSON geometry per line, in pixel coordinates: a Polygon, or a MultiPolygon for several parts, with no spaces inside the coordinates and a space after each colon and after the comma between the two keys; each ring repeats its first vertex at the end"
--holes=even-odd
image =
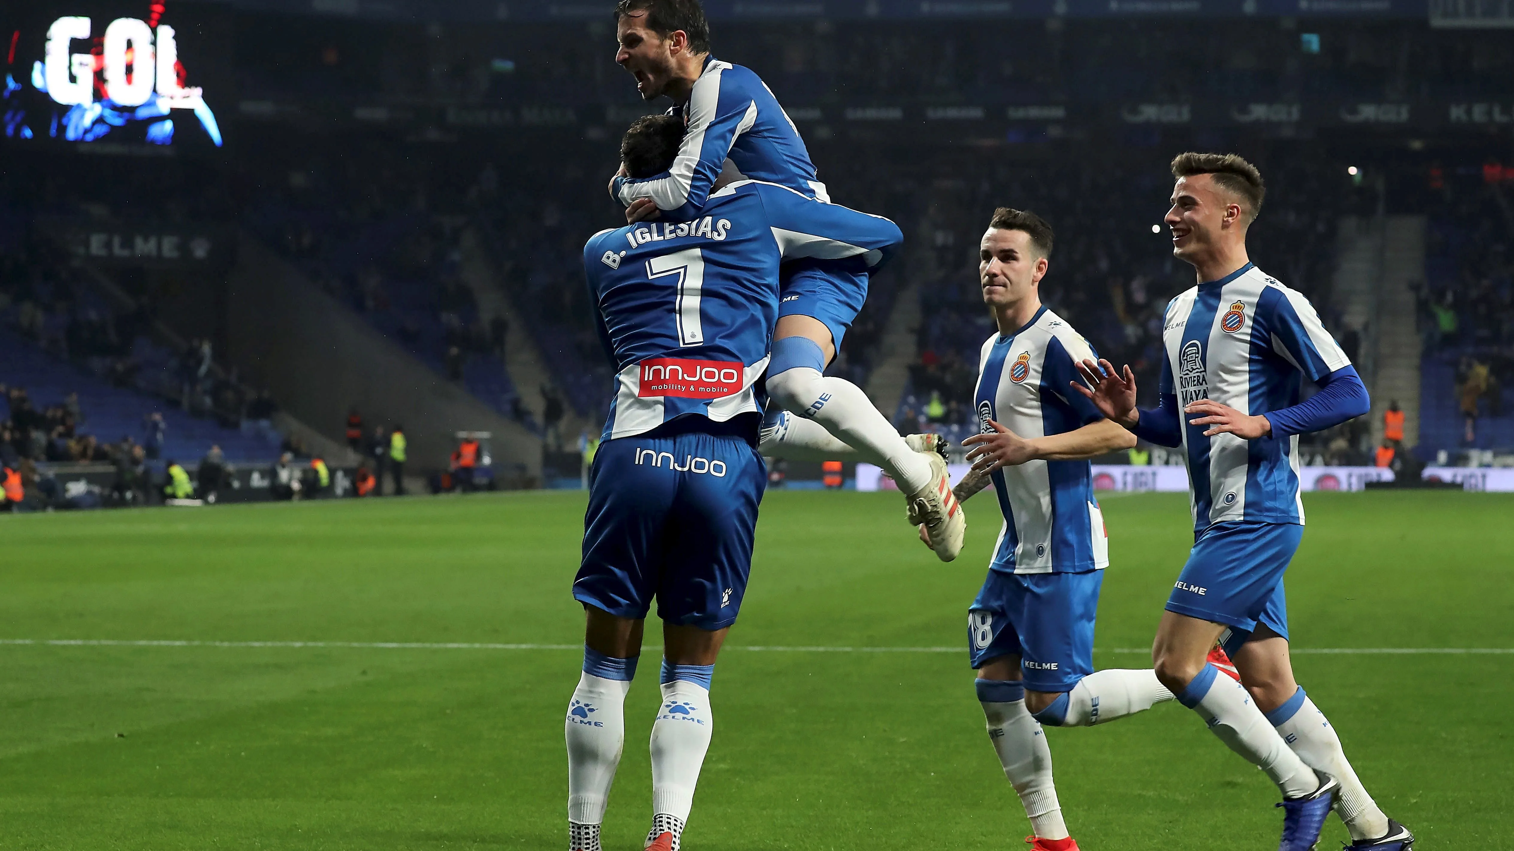
{"type": "MultiPolygon", "coordinates": [[[[710,56],[710,29],[698,0],[621,0],[616,38],[615,59],[636,77],[642,97],[669,97],[672,114],[687,123],[671,168],[612,180],[612,194],[628,206],[633,221],[687,220],[722,171],[787,186],[815,203],[830,201],[799,132],[762,79],[710,56]]],[[[818,254],[789,259],[766,380],[777,404],[763,426],[763,451],[799,457],[807,447],[831,444],[833,435],[855,447],[893,475],[910,501],[910,516],[930,527],[936,554],[949,562],[961,550],[966,521],[945,459],[914,451],[861,388],[825,376],[868,298],[868,268],[855,259],[818,254]]]]}

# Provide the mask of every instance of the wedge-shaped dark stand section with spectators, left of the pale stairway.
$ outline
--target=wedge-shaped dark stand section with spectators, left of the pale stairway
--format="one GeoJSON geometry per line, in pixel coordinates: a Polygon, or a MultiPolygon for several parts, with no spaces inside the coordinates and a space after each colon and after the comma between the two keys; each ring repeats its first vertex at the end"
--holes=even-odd
{"type": "Polygon", "coordinates": [[[407,154],[372,141],[269,141],[242,164],[245,221],[386,338],[534,427],[504,363],[509,321],[484,315],[462,274],[478,173],[407,154]]]}

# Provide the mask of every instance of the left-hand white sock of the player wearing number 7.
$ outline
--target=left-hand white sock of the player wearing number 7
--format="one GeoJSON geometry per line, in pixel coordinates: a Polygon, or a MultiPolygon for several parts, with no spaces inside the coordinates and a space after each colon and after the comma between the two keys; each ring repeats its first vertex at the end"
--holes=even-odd
{"type": "MultiPolygon", "coordinates": [[[[563,736],[568,739],[568,821],[574,839],[583,834],[586,851],[598,848],[598,830],[577,831],[572,825],[598,827],[610,800],[615,769],[625,743],[625,692],[631,683],[583,674],[568,704],[563,736]],[[592,846],[589,845],[592,842],[592,846]]],[[[577,851],[577,845],[572,846],[577,851]]]]}

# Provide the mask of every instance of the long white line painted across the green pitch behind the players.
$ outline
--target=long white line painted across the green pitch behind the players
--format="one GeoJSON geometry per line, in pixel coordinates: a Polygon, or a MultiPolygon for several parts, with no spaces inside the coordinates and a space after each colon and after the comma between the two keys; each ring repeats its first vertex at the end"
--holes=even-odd
{"type": "MultiPolygon", "coordinates": [[[[171,639],[0,639],[0,647],[227,647],[227,648],[333,648],[333,650],[583,650],[581,644],[484,644],[401,641],[171,641],[171,639]]],[[[960,647],[777,647],[731,645],[728,650],[760,653],[963,653],[960,647]]],[[[1146,647],[1096,648],[1095,653],[1145,653],[1146,647]]],[[[1307,656],[1508,656],[1509,647],[1294,647],[1307,656]]]]}

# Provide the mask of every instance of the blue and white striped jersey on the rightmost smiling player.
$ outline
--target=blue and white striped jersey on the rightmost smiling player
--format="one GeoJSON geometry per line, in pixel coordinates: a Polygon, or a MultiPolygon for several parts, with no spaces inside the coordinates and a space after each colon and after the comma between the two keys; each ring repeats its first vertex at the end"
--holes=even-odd
{"type": "MultiPolygon", "coordinates": [[[[1213,398],[1258,415],[1299,403],[1304,376],[1320,382],[1350,359],[1304,294],[1246,263],[1167,304],[1161,392],[1178,410],[1213,398]]],[[[1193,528],[1225,521],[1304,524],[1299,438],[1205,438],[1207,426],[1181,424],[1193,491],[1193,528]]]]}

